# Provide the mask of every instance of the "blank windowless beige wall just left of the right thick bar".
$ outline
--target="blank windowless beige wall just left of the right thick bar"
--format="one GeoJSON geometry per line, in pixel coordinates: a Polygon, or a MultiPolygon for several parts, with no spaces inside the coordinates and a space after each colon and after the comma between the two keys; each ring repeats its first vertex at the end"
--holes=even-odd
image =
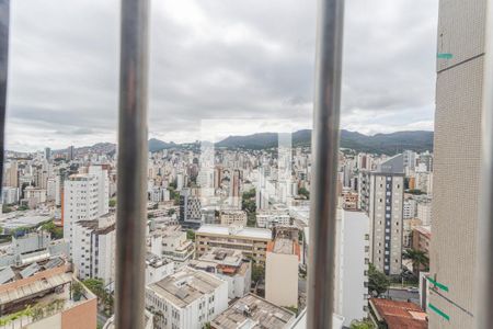
{"type": "Polygon", "coordinates": [[[298,307],[298,256],[267,251],[265,299],[278,306],[298,307]]]}

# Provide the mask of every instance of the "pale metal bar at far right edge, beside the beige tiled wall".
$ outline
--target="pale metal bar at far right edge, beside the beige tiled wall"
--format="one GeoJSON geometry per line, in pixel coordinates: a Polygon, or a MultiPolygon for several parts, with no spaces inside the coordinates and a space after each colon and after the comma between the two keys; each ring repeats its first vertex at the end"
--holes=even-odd
{"type": "Polygon", "coordinates": [[[477,328],[493,324],[493,2],[486,4],[481,181],[477,247],[477,328]]]}

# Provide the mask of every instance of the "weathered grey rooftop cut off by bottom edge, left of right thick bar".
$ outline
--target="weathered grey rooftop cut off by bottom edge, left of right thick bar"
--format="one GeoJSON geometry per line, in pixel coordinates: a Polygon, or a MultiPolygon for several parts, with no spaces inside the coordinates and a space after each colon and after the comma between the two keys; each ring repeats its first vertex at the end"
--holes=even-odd
{"type": "Polygon", "coordinates": [[[238,299],[219,314],[210,326],[217,329],[287,328],[295,315],[253,294],[238,299]]]}

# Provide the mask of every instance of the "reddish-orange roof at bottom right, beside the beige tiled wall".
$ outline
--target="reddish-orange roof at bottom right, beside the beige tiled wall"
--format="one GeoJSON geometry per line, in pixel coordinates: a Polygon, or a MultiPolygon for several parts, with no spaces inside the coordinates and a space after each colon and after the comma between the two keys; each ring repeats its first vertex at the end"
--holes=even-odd
{"type": "Polygon", "coordinates": [[[380,298],[370,298],[377,320],[385,321],[389,329],[426,329],[426,313],[416,304],[380,298]]]}

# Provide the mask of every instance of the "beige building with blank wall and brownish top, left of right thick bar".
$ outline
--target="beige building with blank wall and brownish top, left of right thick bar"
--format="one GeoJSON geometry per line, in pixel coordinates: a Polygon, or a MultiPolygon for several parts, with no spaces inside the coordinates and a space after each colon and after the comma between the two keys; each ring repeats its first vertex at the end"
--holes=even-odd
{"type": "Polygon", "coordinates": [[[298,230],[279,229],[267,245],[265,299],[278,306],[298,307],[298,230]]]}

